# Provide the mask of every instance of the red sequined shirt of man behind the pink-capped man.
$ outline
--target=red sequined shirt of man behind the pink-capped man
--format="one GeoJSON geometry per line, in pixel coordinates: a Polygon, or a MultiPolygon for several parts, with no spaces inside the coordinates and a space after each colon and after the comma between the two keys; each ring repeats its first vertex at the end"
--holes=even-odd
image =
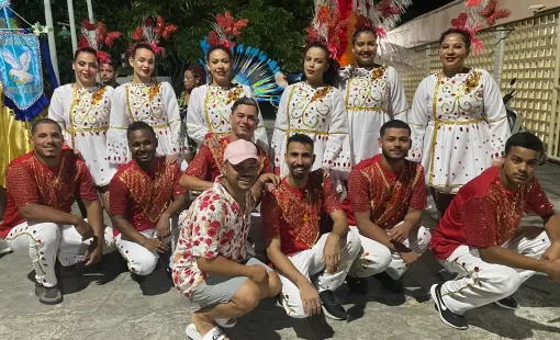
{"type": "MultiPolygon", "coordinates": [[[[225,173],[224,151],[228,144],[229,137],[221,138],[219,148],[211,148],[208,143],[204,141],[197,152],[197,156],[194,156],[194,159],[189,163],[189,168],[187,168],[184,174],[214,182],[220,174],[225,173]]],[[[255,146],[257,147],[257,156],[259,157],[260,163],[259,175],[271,172],[270,159],[268,158],[267,151],[258,145],[255,146]]]]}

